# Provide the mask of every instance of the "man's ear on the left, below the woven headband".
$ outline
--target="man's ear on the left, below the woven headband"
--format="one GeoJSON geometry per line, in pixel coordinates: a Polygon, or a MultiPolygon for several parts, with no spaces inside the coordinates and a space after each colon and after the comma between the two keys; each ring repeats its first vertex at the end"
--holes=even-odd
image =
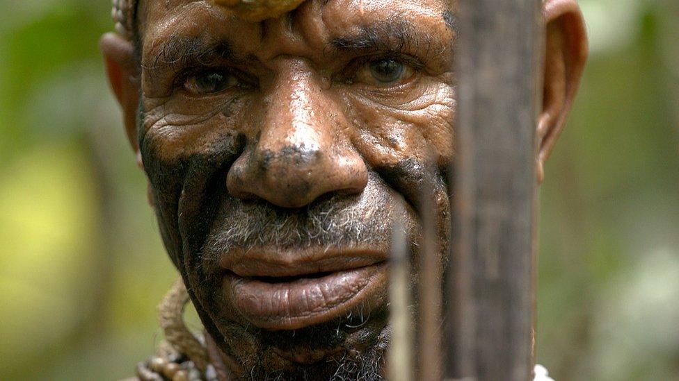
{"type": "Polygon", "coordinates": [[[122,108],[127,139],[136,154],[137,165],[143,168],[136,130],[140,73],[138,62],[134,58],[134,46],[117,33],[106,33],[99,40],[99,49],[104,53],[111,90],[122,108]]]}

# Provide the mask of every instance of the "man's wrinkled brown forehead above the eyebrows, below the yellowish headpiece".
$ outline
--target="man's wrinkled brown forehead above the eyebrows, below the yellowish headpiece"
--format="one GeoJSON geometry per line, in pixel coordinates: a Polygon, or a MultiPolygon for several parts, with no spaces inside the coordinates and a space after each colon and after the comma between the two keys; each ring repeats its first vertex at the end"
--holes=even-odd
{"type": "MultiPolygon", "coordinates": [[[[445,33],[452,25],[457,0],[307,0],[282,17],[290,29],[297,28],[296,38],[332,40],[358,33],[374,24],[406,23],[431,28],[430,33],[445,33]],[[438,29],[438,30],[437,30],[438,29]]],[[[179,35],[218,35],[228,40],[264,38],[264,22],[247,22],[214,6],[208,0],[143,0],[138,12],[138,30],[144,50],[179,35]]],[[[321,46],[314,46],[321,49],[321,46]]]]}

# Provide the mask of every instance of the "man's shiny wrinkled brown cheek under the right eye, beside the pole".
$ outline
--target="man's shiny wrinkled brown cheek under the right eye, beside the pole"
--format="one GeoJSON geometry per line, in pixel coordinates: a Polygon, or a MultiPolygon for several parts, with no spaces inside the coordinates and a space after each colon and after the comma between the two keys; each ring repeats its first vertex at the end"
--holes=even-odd
{"type": "Polygon", "coordinates": [[[351,92],[344,94],[355,125],[353,144],[374,167],[406,159],[443,164],[453,154],[454,90],[430,87],[417,99],[385,105],[351,92]]]}

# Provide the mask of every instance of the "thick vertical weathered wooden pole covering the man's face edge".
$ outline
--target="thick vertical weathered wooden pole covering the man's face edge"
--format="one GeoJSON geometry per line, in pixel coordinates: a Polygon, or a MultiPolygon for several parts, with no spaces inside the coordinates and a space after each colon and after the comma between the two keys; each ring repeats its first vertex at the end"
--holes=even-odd
{"type": "Polygon", "coordinates": [[[458,23],[446,376],[525,381],[532,377],[541,1],[460,0],[458,23]]]}

